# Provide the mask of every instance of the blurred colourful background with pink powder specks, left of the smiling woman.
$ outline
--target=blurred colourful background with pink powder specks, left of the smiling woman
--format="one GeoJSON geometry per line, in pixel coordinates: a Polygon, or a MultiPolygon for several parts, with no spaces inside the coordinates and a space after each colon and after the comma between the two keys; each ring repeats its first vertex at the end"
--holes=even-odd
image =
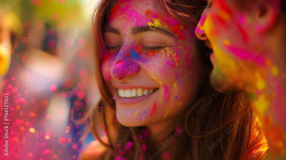
{"type": "Polygon", "coordinates": [[[94,3],[0,1],[0,159],[78,159],[95,139],[86,119],[100,100],[89,24],[94,3]]]}

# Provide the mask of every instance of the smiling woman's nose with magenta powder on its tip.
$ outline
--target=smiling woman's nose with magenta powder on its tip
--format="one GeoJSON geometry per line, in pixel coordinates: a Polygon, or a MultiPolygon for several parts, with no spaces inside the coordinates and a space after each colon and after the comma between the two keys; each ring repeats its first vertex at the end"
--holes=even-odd
{"type": "Polygon", "coordinates": [[[136,75],[140,70],[139,64],[129,56],[130,54],[122,53],[124,51],[120,52],[110,69],[111,76],[116,80],[125,76],[136,75]]]}

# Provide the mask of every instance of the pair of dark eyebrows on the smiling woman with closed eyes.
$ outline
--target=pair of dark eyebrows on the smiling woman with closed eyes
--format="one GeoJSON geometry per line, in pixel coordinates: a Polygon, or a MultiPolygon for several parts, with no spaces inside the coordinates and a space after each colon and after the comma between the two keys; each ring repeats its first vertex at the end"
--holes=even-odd
{"type": "MultiPolygon", "coordinates": [[[[106,31],[107,32],[111,32],[111,33],[115,33],[115,34],[118,34],[118,35],[121,35],[120,31],[116,28],[113,28],[113,27],[107,27],[106,28],[106,31]]],[[[145,32],[159,32],[159,33],[162,33],[164,35],[168,35],[168,36],[171,36],[171,37],[176,37],[178,38],[178,36],[174,35],[173,33],[165,30],[164,28],[162,27],[155,27],[155,26],[140,26],[140,27],[132,27],[131,28],[131,35],[138,35],[140,33],[145,33],[145,32]]]]}

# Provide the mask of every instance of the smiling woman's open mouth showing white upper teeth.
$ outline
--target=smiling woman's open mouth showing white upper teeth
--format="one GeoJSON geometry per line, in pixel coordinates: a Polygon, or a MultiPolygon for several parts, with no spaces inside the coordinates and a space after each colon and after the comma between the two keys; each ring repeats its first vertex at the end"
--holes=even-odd
{"type": "Polygon", "coordinates": [[[119,97],[124,98],[135,98],[135,97],[143,97],[145,95],[154,93],[159,88],[132,88],[132,89],[117,89],[119,97]]]}

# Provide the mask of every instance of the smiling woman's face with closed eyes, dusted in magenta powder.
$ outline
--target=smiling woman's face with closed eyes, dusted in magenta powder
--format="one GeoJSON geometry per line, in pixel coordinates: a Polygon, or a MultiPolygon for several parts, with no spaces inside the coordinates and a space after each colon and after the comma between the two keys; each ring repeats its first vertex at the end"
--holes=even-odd
{"type": "Polygon", "coordinates": [[[200,71],[194,29],[147,0],[121,1],[104,26],[101,70],[121,124],[168,122],[190,105],[200,71]]]}

